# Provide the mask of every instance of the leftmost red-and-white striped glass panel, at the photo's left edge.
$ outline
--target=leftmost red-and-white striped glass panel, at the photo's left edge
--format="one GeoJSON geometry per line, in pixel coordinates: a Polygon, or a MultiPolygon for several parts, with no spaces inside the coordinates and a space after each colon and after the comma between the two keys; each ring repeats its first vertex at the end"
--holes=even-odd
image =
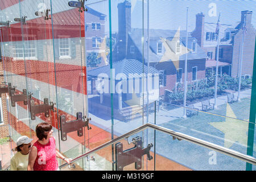
{"type": "MultiPolygon", "coordinates": [[[[16,94],[21,94],[22,89],[26,89],[26,80],[24,77],[24,49],[22,42],[22,24],[20,22],[15,22],[15,18],[20,17],[20,9],[18,1],[15,2],[2,2],[1,1],[1,72],[3,72],[3,77],[1,82],[5,81],[2,86],[7,86],[7,83],[11,83],[11,86],[16,86],[16,94]]],[[[32,51],[30,49],[30,51],[32,51]]],[[[28,123],[23,123],[23,119],[28,118],[27,105],[23,102],[16,102],[15,106],[11,106],[10,94],[3,93],[2,97],[2,114],[3,114],[3,124],[8,125],[8,127],[2,127],[4,130],[1,134],[3,142],[6,141],[6,137],[10,136],[12,142],[8,142],[9,150],[7,150],[7,143],[2,144],[3,154],[5,154],[5,159],[3,162],[5,164],[10,164],[10,158],[14,155],[11,149],[16,147],[16,139],[21,135],[27,135],[31,137],[30,127],[27,126],[28,123]],[[19,122],[20,121],[20,122],[19,122]]],[[[9,140],[10,140],[9,139],[9,140]]]]}

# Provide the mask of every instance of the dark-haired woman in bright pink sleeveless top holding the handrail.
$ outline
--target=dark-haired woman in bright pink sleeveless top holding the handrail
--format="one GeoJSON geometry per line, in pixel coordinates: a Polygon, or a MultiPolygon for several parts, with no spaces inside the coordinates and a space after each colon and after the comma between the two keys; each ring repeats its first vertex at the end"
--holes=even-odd
{"type": "Polygon", "coordinates": [[[28,171],[58,171],[57,158],[70,164],[72,159],[65,158],[56,150],[55,139],[52,137],[52,126],[49,123],[39,123],[36,126],[38,140],[31,147],[28,158],[28,171]]]}

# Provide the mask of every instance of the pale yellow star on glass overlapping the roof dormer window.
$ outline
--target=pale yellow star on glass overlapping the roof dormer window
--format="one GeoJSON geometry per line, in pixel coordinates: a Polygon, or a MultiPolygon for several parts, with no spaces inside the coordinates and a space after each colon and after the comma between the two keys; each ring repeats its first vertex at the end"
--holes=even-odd
{"type": "Polygon", "coordinates": [[[172,63],[174,63],[175,68],[179,69],[180,56],[189,52],[188,48],[180,42],[180,28],[177,30],[174,38],[171,41],[164,38],[160,39],[166,51],[159,62],[161,63],[171,60],[172,63]]]}

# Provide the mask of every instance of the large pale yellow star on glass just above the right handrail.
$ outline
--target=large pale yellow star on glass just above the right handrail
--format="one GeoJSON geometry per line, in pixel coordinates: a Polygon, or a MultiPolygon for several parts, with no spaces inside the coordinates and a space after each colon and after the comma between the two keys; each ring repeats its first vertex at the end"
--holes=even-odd
{"type": "Polygon", "coordinates": [[[224,133],[224,147],[231,147],[235,142],[247,146],[247,131],[249,123],[241,121],[236,117],[229,104],[226,105],[226,118],[225,122],[212,122],[210,125],[224,133]]]}

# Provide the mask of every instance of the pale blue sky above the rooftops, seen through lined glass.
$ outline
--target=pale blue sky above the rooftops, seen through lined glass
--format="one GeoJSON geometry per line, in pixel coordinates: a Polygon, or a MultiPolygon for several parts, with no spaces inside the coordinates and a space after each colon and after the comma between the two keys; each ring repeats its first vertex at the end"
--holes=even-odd
{"type": "MultiPolygon", "coordinates": [[[[221,14],[220,23],[236,26],[241,20],[241,11],[253,11],[252,24],[256,27],[256,1],[253,0],[129,0],[131,2],[131,27],[142,28],[142,9],[144,2],[144,27],[147,27],[147,6],[149,5],[150,28],[186,30],[188,8],[188,31],[195,28],[196,14],[204,13],[206,22],[216,23],[221,14]],[[149,3],[149,4],[148,4],[149,3]]],[[[93,9],[107,15],[106,28],[109,28],[109,1],[90,1],[93,9]]],[[[118,3],[123,0],[112,0],[112,31],[118,30],[118,3]]]]}

